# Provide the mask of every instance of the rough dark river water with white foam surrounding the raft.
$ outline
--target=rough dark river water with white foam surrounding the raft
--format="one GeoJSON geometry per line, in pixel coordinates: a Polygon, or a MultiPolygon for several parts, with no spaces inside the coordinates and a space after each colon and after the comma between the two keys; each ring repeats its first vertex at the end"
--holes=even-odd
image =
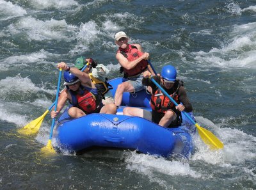
{"type": "Polygon", "coordinates": [[[255,1],[0,0],[0,189],[256,189],[255,20],[255,1]],[[177,67],[196,120],[223,150],[196,134],[189,160],[111,150],[43,157],[49,116],[36,136],[19,136],[54,101],[56,63],[83,55],[120,76],[116,31],[141,44],[157,72],[177,67]]]}

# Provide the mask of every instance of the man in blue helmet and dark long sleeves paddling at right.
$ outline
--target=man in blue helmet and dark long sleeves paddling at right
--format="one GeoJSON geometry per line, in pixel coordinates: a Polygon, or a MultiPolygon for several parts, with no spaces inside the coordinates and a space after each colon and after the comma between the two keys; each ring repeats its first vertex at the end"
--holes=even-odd
{"type": "Polygon", "coordinates": [[[150,72],[144,72],[142,83],[152,88],[150,99],[152,113],[136,107],[125,107],[124,115],[141,116],[163,127],[179,126],[182,123],[181,111],[191,112],[193,108],[183,87],[183,82],[176,79],[177,71],[175,67],[166,65],[162,68],[161,75],[152,77],[179,104],[178,106],[175,106],[162,93],[156,84],[149,79],[150,76],[150,72]]]}

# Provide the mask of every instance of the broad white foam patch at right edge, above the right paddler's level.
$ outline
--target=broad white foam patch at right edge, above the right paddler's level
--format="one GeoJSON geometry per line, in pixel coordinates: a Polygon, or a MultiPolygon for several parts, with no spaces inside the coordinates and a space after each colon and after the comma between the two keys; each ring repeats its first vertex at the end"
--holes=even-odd
{"type": "Polygon", "coordinates": [[[255,68],[256,67],[256,22],[233,26],[230,39],[221,49],[196,52],[195,59],[202,67],[255,68]]]}

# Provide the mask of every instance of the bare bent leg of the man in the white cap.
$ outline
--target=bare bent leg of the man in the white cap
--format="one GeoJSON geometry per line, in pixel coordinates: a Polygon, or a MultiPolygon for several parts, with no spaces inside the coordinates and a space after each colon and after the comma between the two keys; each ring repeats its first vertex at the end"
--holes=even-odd
{"type": "Polygon", "coordinates": [[[134,87],[132,86],[131,83],[129,82],[124,82],[122,84],[118,84],[116,88],[116,93],[115,93],[115,104],[116,106],[120,106],[123,98],[123,93],[125,91],[133,92],[134,87]]]}

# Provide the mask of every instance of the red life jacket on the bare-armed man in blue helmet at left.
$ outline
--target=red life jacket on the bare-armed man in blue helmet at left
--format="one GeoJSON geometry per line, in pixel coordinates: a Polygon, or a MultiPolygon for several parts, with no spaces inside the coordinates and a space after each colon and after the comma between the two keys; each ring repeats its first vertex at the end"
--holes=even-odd
{"type": "Polygon", "coordinates": [[[71,104],[82,109],[84,113],[95,113],[100,107],[101,98],[97,89],[80,86],[78,92],[69,91],[72,97],[71,104]]]}

